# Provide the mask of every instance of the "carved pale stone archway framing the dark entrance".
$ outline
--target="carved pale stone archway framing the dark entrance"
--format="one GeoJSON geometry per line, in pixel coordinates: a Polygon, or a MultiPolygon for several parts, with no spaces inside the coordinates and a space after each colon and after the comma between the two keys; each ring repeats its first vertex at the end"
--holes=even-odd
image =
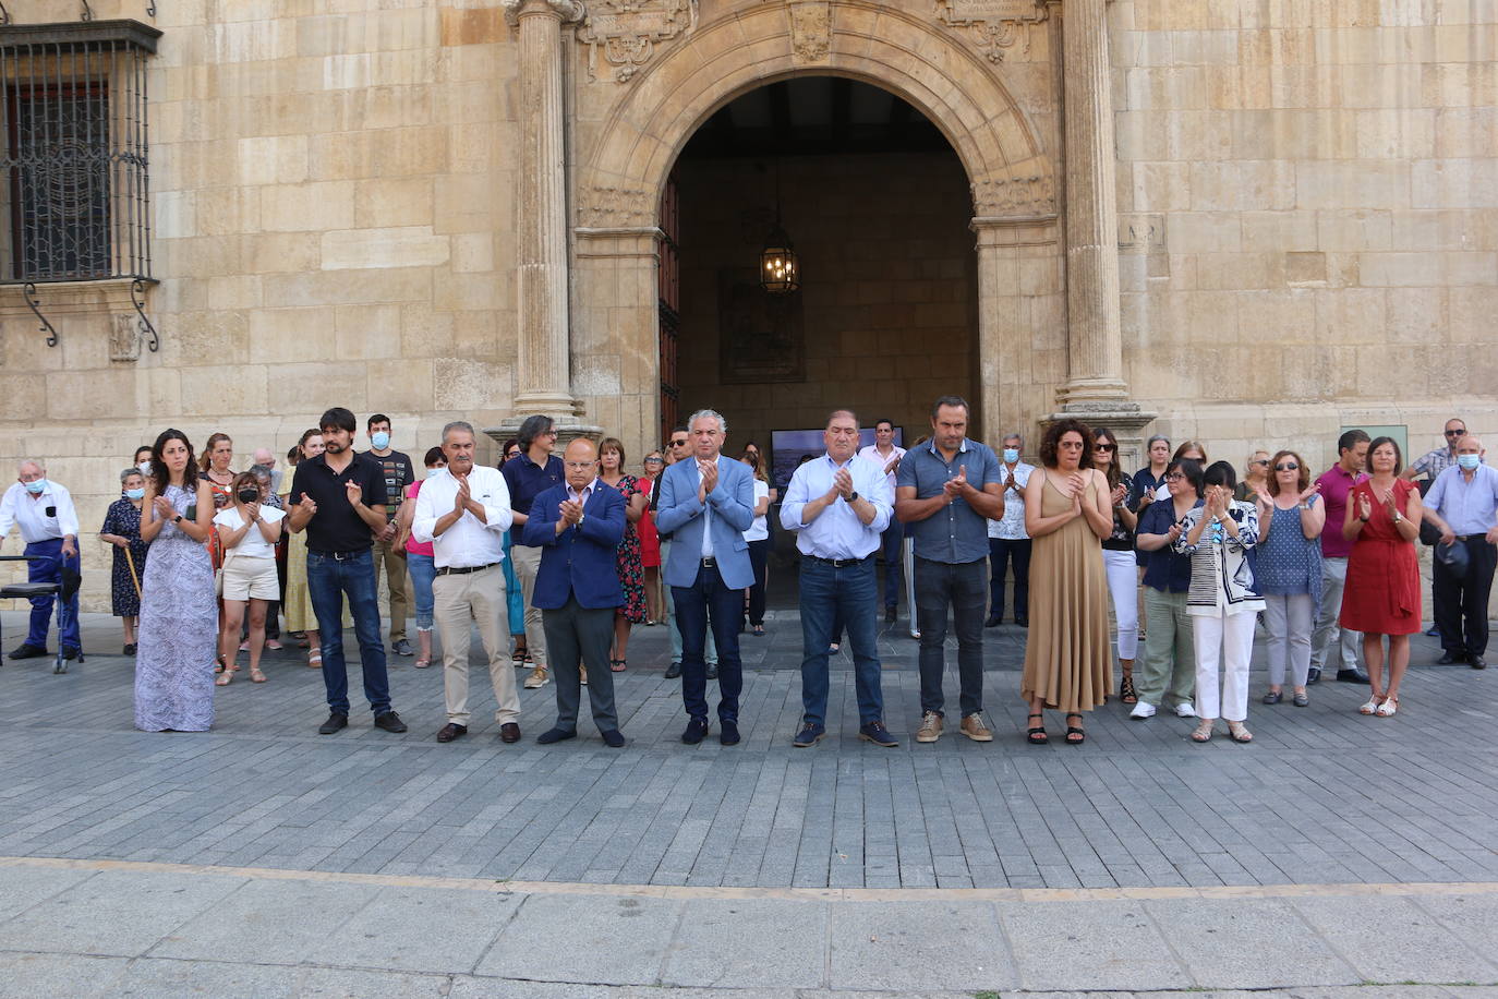
{"type": "MultiPolygon", "coordinates": [[[[1053,25],[1025,30],[1040,33],[1037,49],[1055,42],[1053,25]]],[[[1037,96],[1053,97],[1047,67],[1029,69],[1052,88],[1037,96]]],[[[974,198],[989,433],[1052,404],[1067,377],[1056,129],[1047,141],[1004,66],[935,16],[860,0],[758,1],[698,25],[619,87],[595,121],[578,121],[572,371],[589,422],[637,443],[653,437],[656,205],[682,147],[734,97],[807,72],[888,90],[947,136],[974,198]]]]}

